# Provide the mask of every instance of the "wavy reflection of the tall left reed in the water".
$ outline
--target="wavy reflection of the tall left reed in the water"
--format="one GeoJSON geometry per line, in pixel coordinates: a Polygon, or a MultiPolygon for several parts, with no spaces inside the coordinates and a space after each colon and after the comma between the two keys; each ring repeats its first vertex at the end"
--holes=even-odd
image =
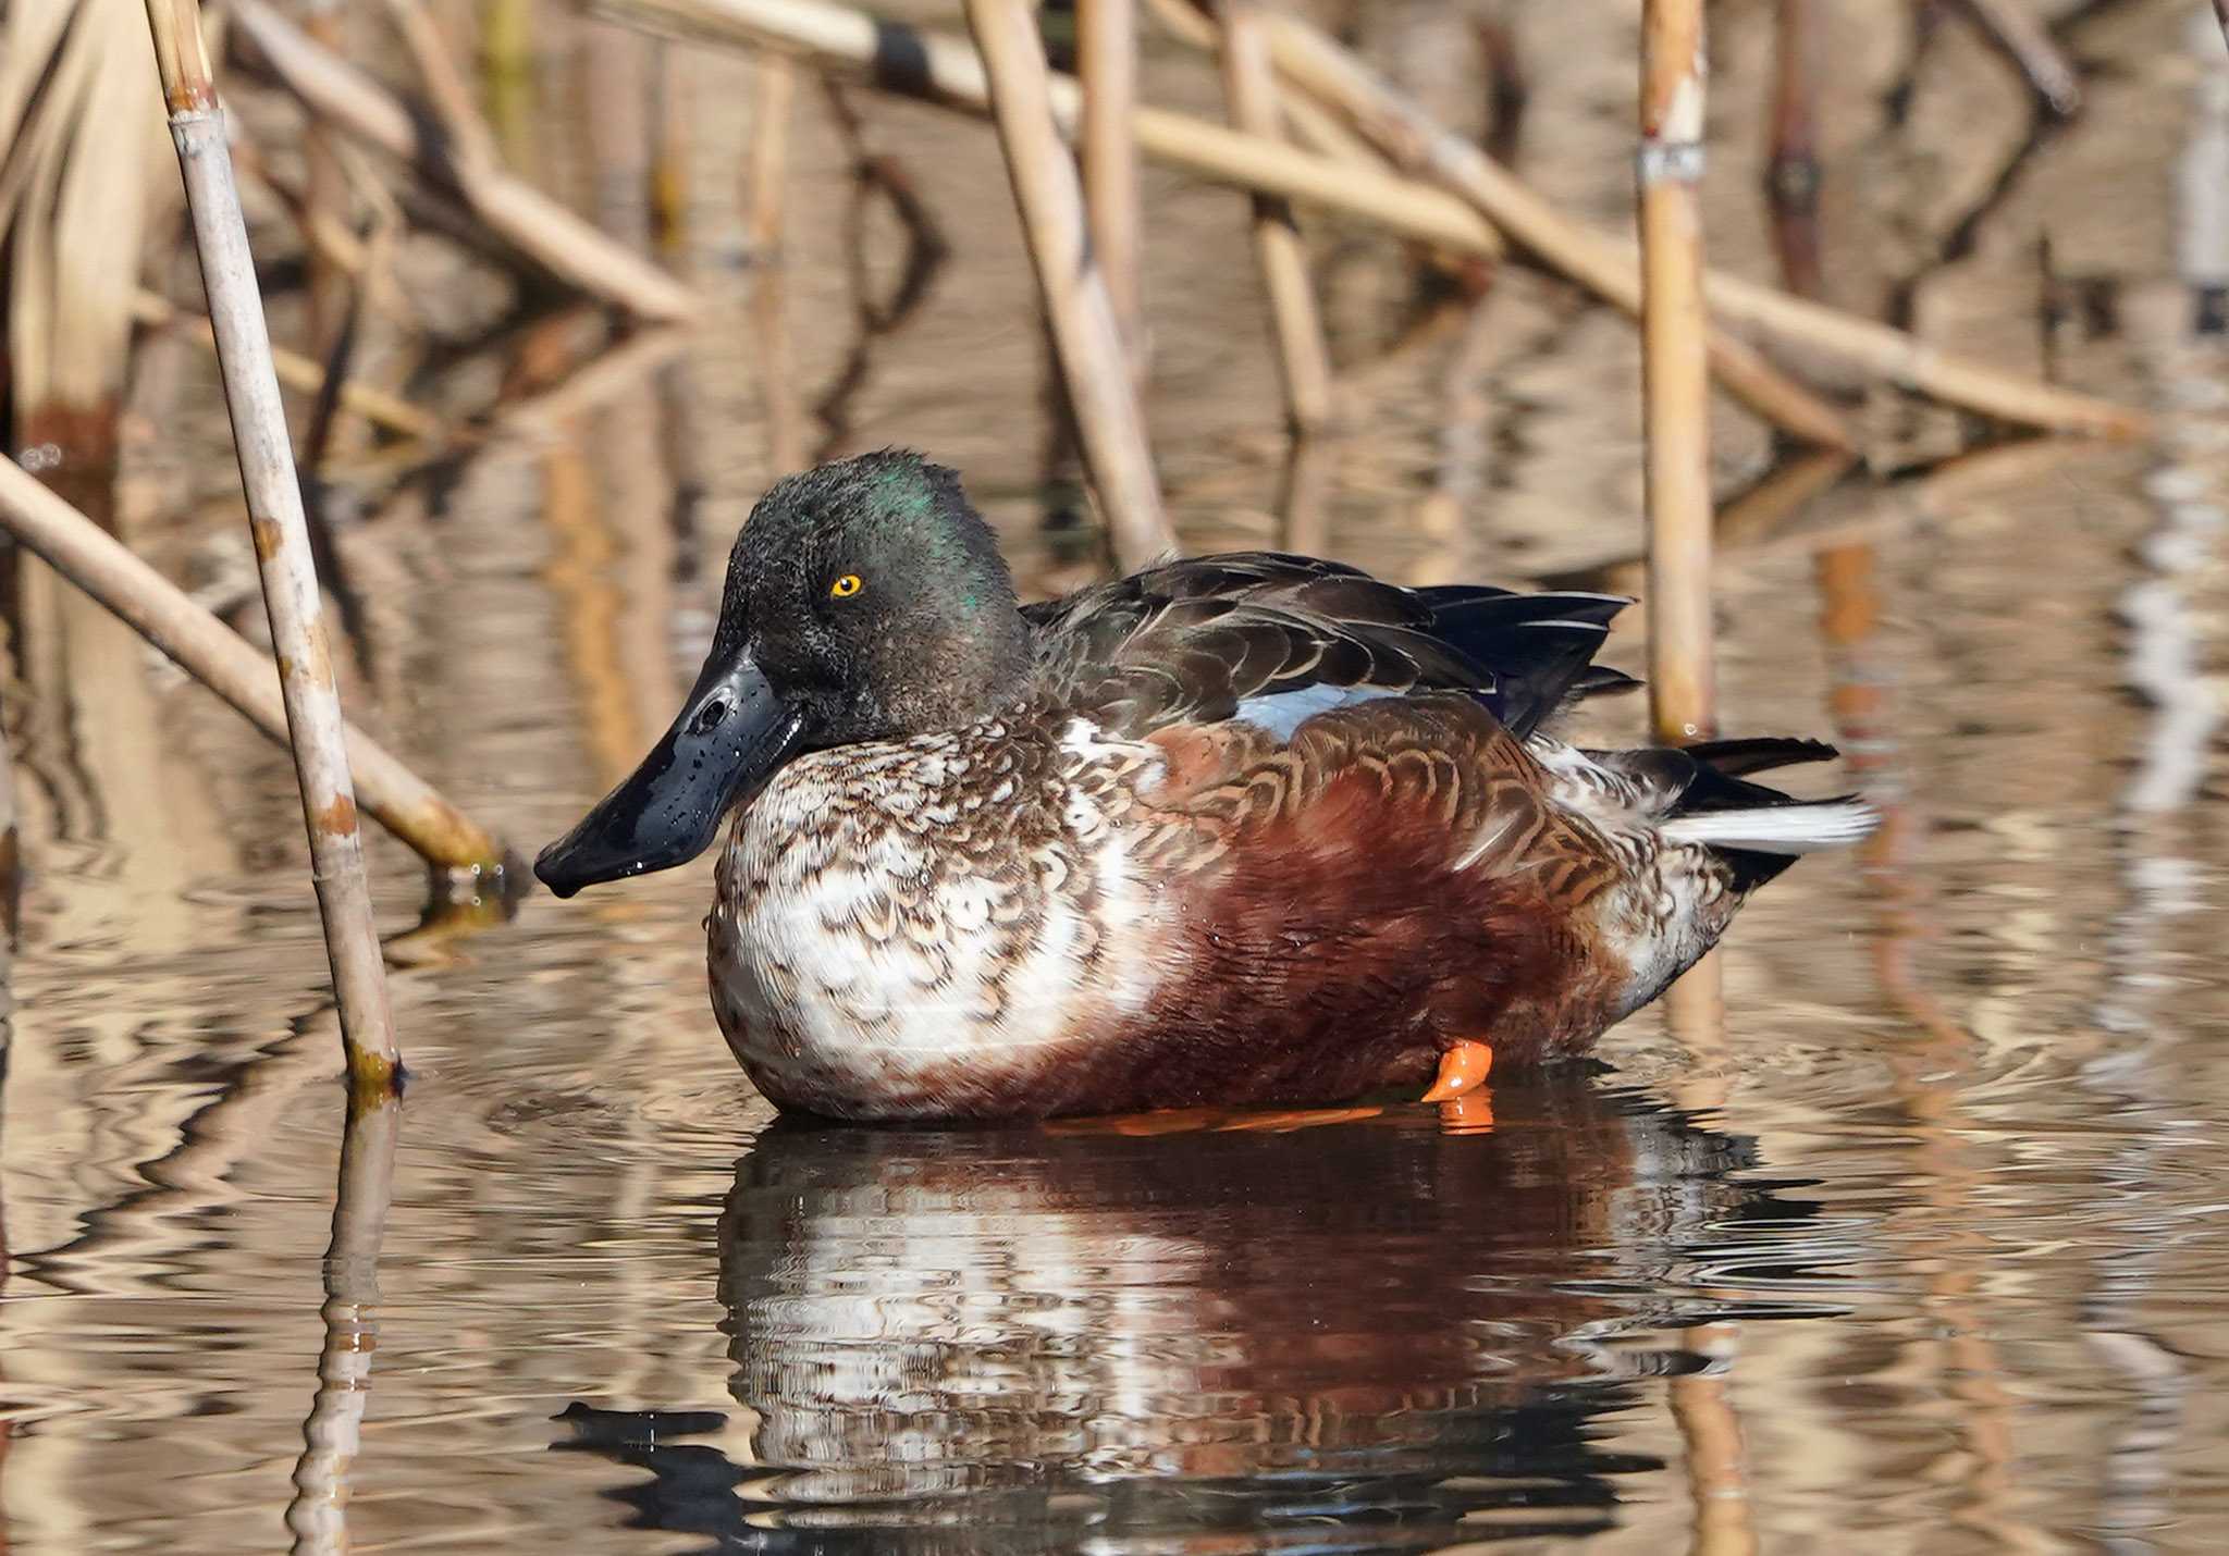
{"type": "Polygon", "coordinates": [[[348,1469],[363,1447],[372,1353],[379,1349],[379,1242],[395,1204],[395,1144],[401,1103],[395,1097],[348,1099],[332,1239],[325,1244],[325,1346],[317,1358],[317,1400],[301,1422],[294,1500],[285,1525],[296,1556],[345,1552],[348,1469]]]}

